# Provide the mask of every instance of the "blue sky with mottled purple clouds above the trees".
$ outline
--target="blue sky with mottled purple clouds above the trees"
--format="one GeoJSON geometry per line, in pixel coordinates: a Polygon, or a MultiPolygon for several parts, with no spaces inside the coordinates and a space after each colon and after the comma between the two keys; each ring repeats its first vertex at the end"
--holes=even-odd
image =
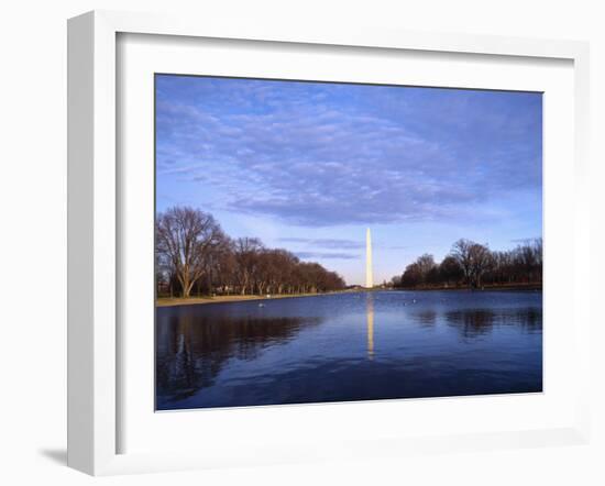
{"type": "Polygon", "coordinates": [[[542,234],[541,93],[156,75],[156,210],[190,206],[346,284],[542,234]]]}

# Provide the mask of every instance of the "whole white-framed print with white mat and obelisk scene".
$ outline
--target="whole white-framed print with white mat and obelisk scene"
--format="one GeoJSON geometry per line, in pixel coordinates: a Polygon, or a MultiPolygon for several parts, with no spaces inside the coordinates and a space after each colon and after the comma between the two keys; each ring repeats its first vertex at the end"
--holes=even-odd
{"type": "Polygon", "coordinates": [[[69,464],[584,441],[586,49],[73,19],[69,464]]]}

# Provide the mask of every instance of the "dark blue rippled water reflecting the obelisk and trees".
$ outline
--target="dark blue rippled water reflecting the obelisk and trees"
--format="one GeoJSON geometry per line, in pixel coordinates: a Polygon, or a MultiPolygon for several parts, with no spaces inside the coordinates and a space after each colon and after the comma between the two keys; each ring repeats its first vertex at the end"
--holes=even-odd
{"type": "Polygon", "coordinates": [[[542,390],[542,295],[377,291],[163,307],[158,410],[542,390]]]}

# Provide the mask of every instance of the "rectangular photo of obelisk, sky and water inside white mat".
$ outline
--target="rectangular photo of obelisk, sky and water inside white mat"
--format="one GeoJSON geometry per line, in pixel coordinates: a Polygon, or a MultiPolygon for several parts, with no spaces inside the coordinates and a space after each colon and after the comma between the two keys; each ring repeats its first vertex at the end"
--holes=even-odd
{"type": "Polygon", "coordinates": [[[542,95],[156,73],[155,410],[542,393],[542,95]]]}

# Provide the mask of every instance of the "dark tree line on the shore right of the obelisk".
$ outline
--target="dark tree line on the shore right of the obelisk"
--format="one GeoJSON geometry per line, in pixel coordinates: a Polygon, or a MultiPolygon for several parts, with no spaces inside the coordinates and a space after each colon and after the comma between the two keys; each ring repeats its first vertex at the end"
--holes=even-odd
{"type": "Polygon", "coordinates": [[[424,254],[393,277],[398,288],[441,288],[509,285],[541,285],[542,239],[528,240],[514,250],[491,251],[486,244],[458,240],[437,263],[424,254]]]}

